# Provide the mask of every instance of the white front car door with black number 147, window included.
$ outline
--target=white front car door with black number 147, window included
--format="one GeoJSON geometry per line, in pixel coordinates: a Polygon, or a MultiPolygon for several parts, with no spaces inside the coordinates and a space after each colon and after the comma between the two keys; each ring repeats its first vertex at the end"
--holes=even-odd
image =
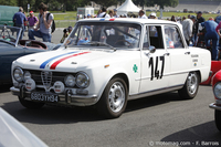
{"type": "Polygon", "coordinates": [[[165,50],[162,28],[146,25],[141,51],[141,82],[139,93],[155,92],[169,85],[170,55],[165,50]],[[156,51],[150,51],[151,48],[156,51]]]}

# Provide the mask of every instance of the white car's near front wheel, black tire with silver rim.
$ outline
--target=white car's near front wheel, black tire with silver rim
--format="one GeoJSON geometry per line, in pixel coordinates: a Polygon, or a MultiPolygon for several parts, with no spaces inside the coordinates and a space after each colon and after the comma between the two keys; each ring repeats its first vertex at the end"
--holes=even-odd
{"type": "Polygon", "coordinates": [[[114,77],[105,87],[96,108],[105,118],[117,118],[126,108],[127,96],[125,81],[120,77],[114,77]]]}

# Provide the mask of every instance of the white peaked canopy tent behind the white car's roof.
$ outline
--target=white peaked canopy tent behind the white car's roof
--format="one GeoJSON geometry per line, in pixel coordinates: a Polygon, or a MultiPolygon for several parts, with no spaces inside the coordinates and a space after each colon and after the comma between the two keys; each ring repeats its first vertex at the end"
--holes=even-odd
{"type": "Polygon", "coordinates": [[[128,12],[138,13],[139,8],[136,7],[131,0],[126,0],[119,8],[117,8],[117,14],[127,14],[128,12]]]}

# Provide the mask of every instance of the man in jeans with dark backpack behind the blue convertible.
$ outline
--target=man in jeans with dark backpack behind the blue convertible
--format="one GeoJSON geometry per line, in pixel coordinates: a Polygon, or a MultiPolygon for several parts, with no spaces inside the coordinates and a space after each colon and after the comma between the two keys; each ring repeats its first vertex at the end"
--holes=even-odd
{"type": "Polygon", "coordinates": [[[29,30],[30,40],[35,40],[34,36],[38,36],[42,38],[44,42],[51,42],[51,25],[54,17],[46,9],[48,7],[43,2],[39,6],[39,22],[35,29],[29,30]]]}

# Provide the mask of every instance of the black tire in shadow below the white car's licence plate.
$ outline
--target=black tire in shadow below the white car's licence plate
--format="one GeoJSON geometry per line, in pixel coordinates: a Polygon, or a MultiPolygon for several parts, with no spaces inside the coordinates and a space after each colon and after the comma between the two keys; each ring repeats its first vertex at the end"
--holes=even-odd
{"type": "Polygon", "coordinates": [[[44,103],[25,101],[24,98],[21,98],[20,96],[19,96],[19,101],[22,106],[24,106],[25,108],[30,108],[30,109],[39,109],[44,106],[44,103]]]}

